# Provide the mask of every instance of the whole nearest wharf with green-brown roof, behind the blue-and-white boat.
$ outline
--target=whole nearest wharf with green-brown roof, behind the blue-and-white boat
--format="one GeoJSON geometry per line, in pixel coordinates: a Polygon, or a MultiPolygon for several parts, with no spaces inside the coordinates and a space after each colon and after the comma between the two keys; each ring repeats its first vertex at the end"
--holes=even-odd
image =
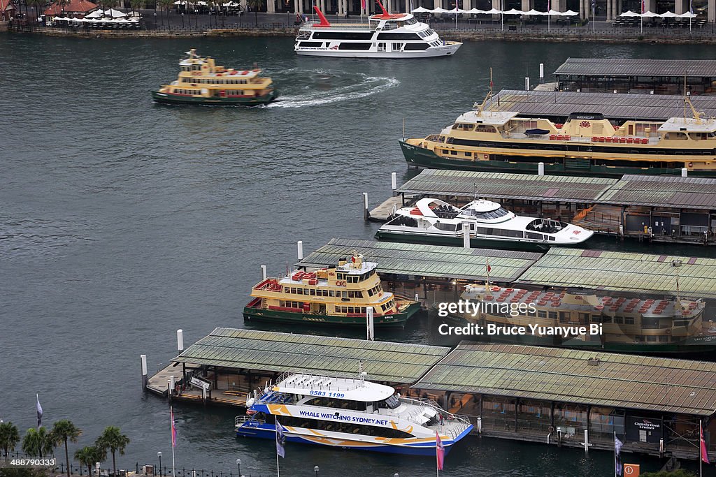
{"type": "MultiPolygon", "coordinates": [[[[369,380],[467,415],[475,433],[555,446],[586,442],[612,450],[616,432],[625,452],[659,455],[663,439],[661,456],[697,459],[700,421],[705,431],[716,432],[716,363],[694,360],[216,328],[171,361],[190,368],[188,378],[212,383],[212,392],[239,379],[249,389],[263,389],[287,372],[353,375],[362,363],[369,380]]],[[[709,452],[716,457],[716,443],[709,452]]]]}

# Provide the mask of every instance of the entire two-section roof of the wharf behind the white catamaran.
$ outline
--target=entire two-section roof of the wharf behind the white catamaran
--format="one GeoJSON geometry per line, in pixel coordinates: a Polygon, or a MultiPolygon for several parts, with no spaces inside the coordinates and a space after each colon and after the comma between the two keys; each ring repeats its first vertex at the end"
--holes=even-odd
{"type": "Polygon", "coordinates": [[[579,202],[716,210],[716,179],[627,174],[621,179],[425,169],[397,192],[425,197],[579,202]]]}

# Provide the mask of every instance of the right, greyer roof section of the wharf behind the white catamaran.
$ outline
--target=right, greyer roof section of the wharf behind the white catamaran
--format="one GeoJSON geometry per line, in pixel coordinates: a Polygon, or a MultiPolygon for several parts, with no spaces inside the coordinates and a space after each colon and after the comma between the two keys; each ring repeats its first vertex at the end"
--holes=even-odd
{"type": "Polygon", "coordinates": [[[625,175],[599,203],[716,209],[716,179],[625,175]]]}

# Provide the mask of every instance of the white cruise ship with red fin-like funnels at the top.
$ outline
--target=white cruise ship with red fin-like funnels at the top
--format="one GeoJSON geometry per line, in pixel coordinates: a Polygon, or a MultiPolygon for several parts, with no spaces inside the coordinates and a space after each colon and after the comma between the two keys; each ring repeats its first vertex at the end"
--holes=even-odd
{"type": "Polygon", "coordinates": [[[371,15],[368,23],[329,23],[314,6],[320,23],[306,22],[299,28],[294,50],[309,56],[349,58],[428,58],[448,56],[462,46],[444,41],[430,26],[412,14],[389,14],[378,1],[382,14],[371,15]]]}

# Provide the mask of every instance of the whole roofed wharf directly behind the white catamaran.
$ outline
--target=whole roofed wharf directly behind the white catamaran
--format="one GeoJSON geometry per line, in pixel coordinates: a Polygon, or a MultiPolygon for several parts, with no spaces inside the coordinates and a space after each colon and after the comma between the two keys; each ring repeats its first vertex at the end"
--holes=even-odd
{"type": "Polygon", "coordinates": [[[425,169],[392,197],[412,197],[402,200],[406,206],[422,197],[460,205],[475,195],[519,215],[566,220],[602,235],[716,245],[716,179],[705,177],[631,174],[610,179],[425,169]]]}

